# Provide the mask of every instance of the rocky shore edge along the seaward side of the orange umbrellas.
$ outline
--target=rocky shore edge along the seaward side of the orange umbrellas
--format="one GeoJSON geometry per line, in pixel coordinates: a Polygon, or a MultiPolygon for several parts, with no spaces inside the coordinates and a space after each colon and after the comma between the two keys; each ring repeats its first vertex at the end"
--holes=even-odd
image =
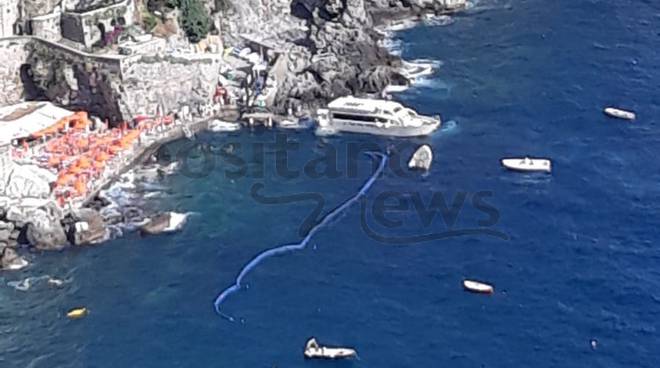
{"type": "MultiPolygon", "coordinates": [[[[204,129],[207,124],[207,119],[200,119],[187,124],[185,130],[194,133],[204,129]]],[[[0,270],[19,270],[28,265],[19,255],[20,249],[62,250],[68,246],[97,244],[111,238],[110,226],[128,222],[130,218],[126,217],[125,213],[120,213],[119,217],[114,218],[103,216],[102,210],[111,204],[111,201],[101,194],[103,190],[112,185],[122,174],[147,162],[162,145],[184,138],[185,130],[181,126],[174,127],[169,134],[162,135],[140,148],[127,165],[121,166],[108,181],[91,192],[81,203],[81,207],[69,208],[68,211],[58,207],[49,198],[49,188],[43,188],[43,191],[38,193],[34,190],[31,193],[25,190],[11,192],[12,187],[34,186],[34,181],[31,182],[29,178],[33,174],[17,175],[17,172],[24,170],[20,163],[5,161],[5,164],[13,165],[15,168],[11,169],[9,174],[3,175],[8,178],[8,185],[0,189],[3,195],[13,196],[16,200],[14,205],[0,207],[3,209],[0,212],[0,270]],[[34,199],[30,199],[30,196],[34,195],[41,197],[39,203],[25,203],[33,202],[34,199]]],[[[6,169],[5,164],[2,167],[6,169]]],[[[36,170],[32,167],[31,169],[36,170]]],[[[141,220],[145,220],[142,211],[140,213],[141,220]]],[[[162,226],[157,226],[157,223],[148,224],[149,234],[158,233],[159,228],[166,231],[168,227],[168,223],[163,221],[169,219],[168,213],[155,216],[158,219],[157,223],[162,226]]],[[[145,225],[147,225],[146,221],[145,225]]]]}

